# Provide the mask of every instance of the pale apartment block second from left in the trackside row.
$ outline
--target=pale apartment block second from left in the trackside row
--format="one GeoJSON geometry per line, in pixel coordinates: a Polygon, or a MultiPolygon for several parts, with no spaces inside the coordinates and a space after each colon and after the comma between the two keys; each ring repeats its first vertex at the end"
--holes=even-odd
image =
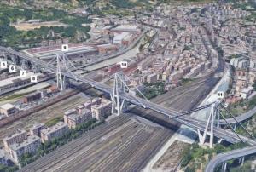
{"type": "Polygon", "coordinates": [[[41,140],[45,141],[53,140],[55,138],[65,135],[68,131],[67,123],[58,122],[54,126],[41,130],[41,140]]]}

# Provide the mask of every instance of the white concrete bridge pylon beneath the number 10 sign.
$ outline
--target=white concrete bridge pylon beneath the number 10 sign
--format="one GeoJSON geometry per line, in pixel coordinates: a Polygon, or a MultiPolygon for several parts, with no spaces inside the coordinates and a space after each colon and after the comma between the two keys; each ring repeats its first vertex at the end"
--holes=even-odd
{"type": "Polygon", "coordinates": [[[121,100],[119,95],[125,92],[125,83],[122,78],[120,78],[118,73],[114,74],[113,81],[113,94],[111,95],[112,100],[112,113],[116,113],[118,116],[126,109],[125,100],[121,100]]]}

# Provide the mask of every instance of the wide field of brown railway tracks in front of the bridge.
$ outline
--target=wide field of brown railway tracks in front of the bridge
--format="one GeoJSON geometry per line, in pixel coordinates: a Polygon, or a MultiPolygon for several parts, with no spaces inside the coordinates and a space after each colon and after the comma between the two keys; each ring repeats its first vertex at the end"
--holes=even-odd
{"type": "Polygon", "coordinates": [[[110,119],[21,171],[139,171],[172,131],[128,116],[110,119]]]}

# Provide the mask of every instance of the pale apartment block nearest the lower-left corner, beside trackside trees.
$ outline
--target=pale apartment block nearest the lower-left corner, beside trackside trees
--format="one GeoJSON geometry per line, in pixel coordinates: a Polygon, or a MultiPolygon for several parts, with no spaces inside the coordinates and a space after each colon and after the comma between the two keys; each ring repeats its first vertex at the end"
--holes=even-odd
{"type": "Polygon", "coordinates": [[[9,146],[10,156],[14,159],[15,163],[19,163],[21,155],[36,152],[40,145],[41,142],[38,136],[28,136],[27,140],[9,146]]]}

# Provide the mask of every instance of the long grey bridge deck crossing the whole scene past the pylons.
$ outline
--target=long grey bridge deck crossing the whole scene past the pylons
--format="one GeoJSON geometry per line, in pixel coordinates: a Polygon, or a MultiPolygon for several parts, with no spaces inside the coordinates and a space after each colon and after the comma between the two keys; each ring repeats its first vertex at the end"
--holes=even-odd
{"type": "MultiPolygon", "coordinates": [[[[26,54],[16,52],[14,49],[0,47],[0,51],[4,51],[4,52],[8,53],[9,55],[12,56],[12,58],[21,58],[23,60],[28,60],[28,61],[31,61],[31,63],[34,65],[41,66],[42,68],[49,69],[50,71],[53,71],[53,72],[57,71],[56,66],[47,64],[43,60],[38,60],[38,59],[32,58],[26,54]]],[[[98,83],[88,77],[81,77],[81,76],[76,75],[70,71],[63,71],[63,72],[61,72],[61,75],[71,78],[71,79],[74,79],[76,81],[80,81],[82,83],[87,83],[91,87],[99,89],[102,92],[108,93],[109,95],[114,95],[114,89],[104,83],[98,83]]],[[[255,140],[251,140],[251,139],[241,136],[241,135],[236,135],[231,130],[220,129],[216,126],[212,126],[211,129],[212,129],[212,131],[214,130],[214,133],[212,134],[208,131],[209,130],[208,125],[204,121],[197,120],[190,116],[184,116],[182,114],[182,112],[178,112],[177,110],[169,109],[169,108],[154,104],[148,100],[144,100],[142,98],[137,98],[136,96],[130,95],[128,93],[119,94],[119,99],[125,100],[126,102],[129,102],[136,106],[148,108],[155,112],[160,112],[161,114],[164,114],[169,119],[176,120],[179,123],[183,123],[183,124],[189,126],[190,128],[195,129],[198,132],[198,134],[201,134],[201,132],[203,132],[206,135],[212,135],[212,137],[214,135],[214,136],[216,136],[220,139],[226,140],[230,143],[237,143],[240,141],[244,141],[244,142],[247,142],[249,145],[256,145],[255,140]]]]}

